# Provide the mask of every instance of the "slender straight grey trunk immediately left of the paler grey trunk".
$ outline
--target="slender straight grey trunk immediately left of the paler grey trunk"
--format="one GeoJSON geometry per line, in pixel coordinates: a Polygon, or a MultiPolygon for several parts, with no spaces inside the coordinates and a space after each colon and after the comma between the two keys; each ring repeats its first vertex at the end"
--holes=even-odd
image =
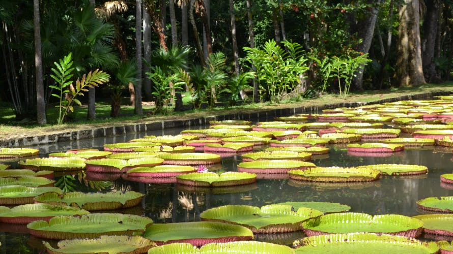
{"type": "Polygon", "coordinates": [[[141,107],[141,0],[135,0],[135,59],[137,60],[137,83],[135,84],[135,107],[136,115],[143,114],[141,107]]]}

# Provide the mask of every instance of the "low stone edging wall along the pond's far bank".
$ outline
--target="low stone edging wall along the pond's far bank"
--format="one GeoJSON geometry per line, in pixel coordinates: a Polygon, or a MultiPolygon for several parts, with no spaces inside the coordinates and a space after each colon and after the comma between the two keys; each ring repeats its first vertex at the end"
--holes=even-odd
{"type": "Polygon", "coordinates": [[[369,104],[382,104],[386,102],[397,102],[405,100],[423,100],[435,96],[446,96],[452,94],[450,91],[437,91],[427,93],[408,94],[400,97],[387,98],[372,102],[352,102],[352,103],[335,103],[321,106],[300,106],[293,108],[280,108],[271,110],[260,110],[252,113],[237,112],[232,114],[212,115],[205,117],[196,117],[187,120],[149,120],[141,123],[115,125],[100,127],[94,129],[84,129],[78,131],[61,132],[49,135],[28,136],[21,138],[0,139],[0,147],[21,147],[40,144],[51,144],[56,142],[76,141],[82,139],[102,138],[130,133],[144,133],[148,131],[160,131],[169,128],[190,128],[191,126],[200,126],[209,124],[211,120],[229,120],[240,119],[259,121],[261,119],[273,119],[279,116],[289,116],[294,114],[313,114],[323,109],[333,109],[338,107],[358,107],[369,104]]]}

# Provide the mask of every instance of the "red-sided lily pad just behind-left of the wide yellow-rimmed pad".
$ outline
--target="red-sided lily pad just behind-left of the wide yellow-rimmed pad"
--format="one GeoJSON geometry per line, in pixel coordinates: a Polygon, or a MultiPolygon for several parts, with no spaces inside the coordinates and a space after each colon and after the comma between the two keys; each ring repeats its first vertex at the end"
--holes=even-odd
{"type": "Polygon", "coordinates": [[[309,161],[312,154],[309,152],[293,151],[261,151],[250,152],[241,155],[243,162],[252,162],[260,160],[292,160],[292,161],[309,161]]]}

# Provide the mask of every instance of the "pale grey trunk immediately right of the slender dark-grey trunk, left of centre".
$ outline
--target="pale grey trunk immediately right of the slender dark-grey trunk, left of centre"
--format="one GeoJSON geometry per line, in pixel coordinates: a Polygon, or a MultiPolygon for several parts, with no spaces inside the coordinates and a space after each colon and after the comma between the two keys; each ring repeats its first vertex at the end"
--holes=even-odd
{"type": "MultiPolygon", "coordinates": [[[[143,58],[148,63],[151,63],[151,17],[145,6],[143,7],[143,58]]],[[[150,71],[148,65],[143,67],[143,72],[150,71]]],[[[151,79],[145,78],[143,83],[143,90],[145,92],[145,100],[151,101],[151,79]]]]}

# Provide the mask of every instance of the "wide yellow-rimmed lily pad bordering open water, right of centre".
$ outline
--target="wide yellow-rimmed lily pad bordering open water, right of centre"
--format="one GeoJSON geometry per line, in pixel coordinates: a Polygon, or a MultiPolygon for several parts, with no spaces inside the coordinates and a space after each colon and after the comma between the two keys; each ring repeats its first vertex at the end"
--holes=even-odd
{"type": "Polygon", "coordinates": [[[316,167],[288,171],[290,178],[312,182],[362,182],[379,179],[380,171],[367,168],[316,167]]]}

